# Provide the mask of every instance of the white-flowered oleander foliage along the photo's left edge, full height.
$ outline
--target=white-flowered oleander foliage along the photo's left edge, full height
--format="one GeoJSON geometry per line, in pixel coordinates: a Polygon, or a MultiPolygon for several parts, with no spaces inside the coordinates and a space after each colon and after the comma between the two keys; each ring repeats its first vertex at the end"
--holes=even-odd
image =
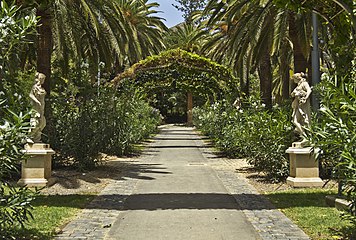
{"type": "Polygon", "coordinates": [[[14,5],[1,1],[0,10],[0,236],[11,239],[11,228],[21,225],[32,216],[31,201],[34,193],[26,187],[9,185],[17,172],[21,152],[29,131],[29,114],[16,114],[26,110],[23,91],[19,86],[18,51],[34,32],[35,16],[22,16],[14,5]]]}

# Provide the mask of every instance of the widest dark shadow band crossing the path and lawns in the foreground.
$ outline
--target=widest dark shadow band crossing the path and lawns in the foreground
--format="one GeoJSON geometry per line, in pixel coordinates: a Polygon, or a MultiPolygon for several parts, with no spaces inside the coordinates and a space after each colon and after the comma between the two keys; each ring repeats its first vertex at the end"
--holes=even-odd
{"type": "MultiPolygon", "coordinates": [[[[325,207],[320,201],[315,199],[324,197],[320,193],[281,193],[288,199],[309,199],[309,201],[286,201],[285,205],[279,209],[295,207],[325,207]]],[[[68,206],[68,199],[77,196],[78,198],[93,198],[95,195],[56,195],[46,196],[46,201],[34,202],[34,206],[45,205],[63,207],[68,206]]],[[[77,207],[82,208],[82,207],[77,207]]],[[[99,195],[85,208],[106,209],[106,210],[217,210],[217,209],[237,209],[237,210],[271,210],[276,207],[263,195],[258,194],[223,194],[223,193],[148,193],[133,195],[99,195]]]]}

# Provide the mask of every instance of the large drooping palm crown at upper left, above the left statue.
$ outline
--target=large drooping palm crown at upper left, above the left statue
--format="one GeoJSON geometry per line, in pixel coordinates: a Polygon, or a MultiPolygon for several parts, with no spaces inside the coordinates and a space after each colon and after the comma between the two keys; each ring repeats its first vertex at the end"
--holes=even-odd
{"type": "Polygon", "coordinates": [[[95,75],[99,60],[109,69],[133,64],[164,48],[166,27],[161,18],[152,16],[157,3],[147,0],[18,0],[17,4],[35,7],[40,17],[37,70],[47,76],[47,92],[53,52],[64,70],[70,59],[75,63],[84,59],[95,75]]]}

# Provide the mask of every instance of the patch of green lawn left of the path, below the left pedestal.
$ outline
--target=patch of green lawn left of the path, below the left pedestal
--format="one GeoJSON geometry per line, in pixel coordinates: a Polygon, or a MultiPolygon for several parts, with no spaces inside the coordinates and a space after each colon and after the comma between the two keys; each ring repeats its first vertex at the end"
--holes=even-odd
{"type": "Polygon", "coordinates": [[[26,230],[15,229],[16,239],[52,239],[94,197],[95,195],[38,196],[33,203],[34,219],[26,224],[26,230]]]}

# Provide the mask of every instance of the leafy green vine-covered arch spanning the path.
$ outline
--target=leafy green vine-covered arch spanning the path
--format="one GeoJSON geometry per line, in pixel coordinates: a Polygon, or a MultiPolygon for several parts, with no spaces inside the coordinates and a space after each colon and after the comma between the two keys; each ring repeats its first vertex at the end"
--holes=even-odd
{"type": "Polygon", "coordinates": [[[182,89],[208,99],[238,93],[237,81],[228,68],[181,49],[164,51],[134,64],[116,76],[113,84],[118,88],[134,85],[148,93],[182,89]]]}

